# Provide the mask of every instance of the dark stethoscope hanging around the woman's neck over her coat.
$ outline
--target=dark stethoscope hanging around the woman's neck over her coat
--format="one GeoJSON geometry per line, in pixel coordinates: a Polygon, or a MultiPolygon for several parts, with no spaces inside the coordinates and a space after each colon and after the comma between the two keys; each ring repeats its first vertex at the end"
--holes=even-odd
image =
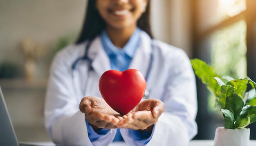
{"type": "MultiPolygon", "coordinates": [[[[88,64],[89,64],[89,67],[88,67],[88,77],[87,77],[88,80],[87,80],[86,85],[85,85],[84,97],[90,95],[90,88],[91,88],[91,85],[92,85],[92,76],[90,75],[90,73],[92,73],[92,71],[94,71],[94,69],[92,67],[92,60],[88,57],[88,51],[90,49],[91,43],[92,43],[92,41],[88,41],[87,45],[85,46],[85,53],[84,53],[84,55],[81,56],[80,58],[77,58],[75,60],[75,62],[72,64],[72,78],[73,78],[74,89],[78,89],[78,86],[77,86],[78,84],[75,83],[76,76],[75,76],[75,72],[74,72],[74,70],[76,69],[76,65],[80,61],[87,61],[88,64]]],[[[151,52],[151,55],[150,55],[150,61],[149,61],[148,69],[147,69],[147,72],[146,72],[146,75],[145,75],[146,82],[148,81],[148,76],[150,74],[150,71],[151,71],[151,68],[152,68],[152,65],[153,65],[153,60],[154,60],[154,55],[153,54],[154,54],[155,47],[157,47],[157,45],[155,45],[153,40],[151,40],[152,52],[151,52]]],[[[77,83],[78,83],[78,81],[77,81],[77,83]]],[[[76,91],[76,92],[78,92],[78,91],[76,91]]],[[[77,93],[77,94],[79,95],[79,93],[77,93]]],[[[149,93],[148,89],[146,88],[146,90],[144,92],[143,98],[144,99],[148,99],[149,94],[150,93],[149,93]]]]}

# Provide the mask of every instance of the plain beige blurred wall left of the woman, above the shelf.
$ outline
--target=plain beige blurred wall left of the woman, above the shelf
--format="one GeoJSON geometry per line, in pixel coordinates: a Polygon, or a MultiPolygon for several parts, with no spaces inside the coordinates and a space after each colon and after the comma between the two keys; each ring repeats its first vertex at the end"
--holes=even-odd
{"type": "Polygon", "coordinates": [[[48,73],[44,70],[48,69],[58,41],[75,38],[79,33],[85,5],[85,0],[1,0],[0,62],[11,62],[20,69],[24,64],[20,44],[29,39],[43,46],[35,75],[46,78],[48,73]]]}

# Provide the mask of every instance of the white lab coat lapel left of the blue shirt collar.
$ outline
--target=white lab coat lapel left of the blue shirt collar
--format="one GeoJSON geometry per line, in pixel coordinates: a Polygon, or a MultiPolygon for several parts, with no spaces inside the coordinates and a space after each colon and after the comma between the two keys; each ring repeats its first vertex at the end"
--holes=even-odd
{"type": "Polygon", "coordinates": [[[99,37],[95,38],[88,52],[92,59],[92,67],[94,71],[101,76],[105,71],[110,70],[110,60],[106,54],[99,37]]]}

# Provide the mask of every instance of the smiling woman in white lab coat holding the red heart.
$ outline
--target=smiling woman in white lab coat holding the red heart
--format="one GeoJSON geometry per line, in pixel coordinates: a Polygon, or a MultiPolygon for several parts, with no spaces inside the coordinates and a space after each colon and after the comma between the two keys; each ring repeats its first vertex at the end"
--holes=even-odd
{"type": "Polygon", "coordinates": [[[52,62],[45,126],[57,145],[186,146],[197,133],[195,77],[182,49],[153,40],[149,0],[88,0],[81,35],[52,62]],[[106,104],[99,78],[137,69],[147,95],[127,115],[106,104]]]}

